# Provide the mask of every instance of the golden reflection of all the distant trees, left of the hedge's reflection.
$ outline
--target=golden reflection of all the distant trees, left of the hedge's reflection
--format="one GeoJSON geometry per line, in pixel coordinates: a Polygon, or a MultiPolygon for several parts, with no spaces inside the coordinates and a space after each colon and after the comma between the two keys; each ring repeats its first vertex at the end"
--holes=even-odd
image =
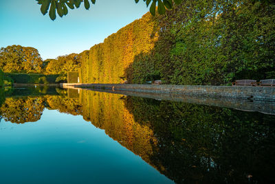
{"type": "Polygon", "coordinates": [[[45,95],[43,97],[7,97],[0,108],[0,113],[5,121],[23,124],[41,119],[45,107],[72,115],[80,115],[82,112],[78,99],[45,95]]]}

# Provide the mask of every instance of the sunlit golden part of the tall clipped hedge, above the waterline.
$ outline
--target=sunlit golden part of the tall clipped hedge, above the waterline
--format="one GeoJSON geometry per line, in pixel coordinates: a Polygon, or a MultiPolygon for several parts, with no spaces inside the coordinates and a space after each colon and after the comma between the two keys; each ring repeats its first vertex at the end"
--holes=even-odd
{"type": "Polygon", "coordinates": [[[80,54],[80,82],[120,83],[124,70],[136,55],[147,53],[157,40],[157,28],[151,14],[145,14],[111,34],[104,43],[80,54]]]}

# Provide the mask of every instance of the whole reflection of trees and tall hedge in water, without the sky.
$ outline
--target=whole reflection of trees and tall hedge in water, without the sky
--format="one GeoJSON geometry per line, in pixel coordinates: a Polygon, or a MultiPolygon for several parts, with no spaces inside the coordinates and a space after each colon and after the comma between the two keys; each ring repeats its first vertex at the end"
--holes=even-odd
{"type": "Polygon", "coordinates": [[[274,182],[274,115],[87,90],[17,90],[1,100],[5,121],[36,122],[44,108],[82,115],[176,183],[274,182]]]}

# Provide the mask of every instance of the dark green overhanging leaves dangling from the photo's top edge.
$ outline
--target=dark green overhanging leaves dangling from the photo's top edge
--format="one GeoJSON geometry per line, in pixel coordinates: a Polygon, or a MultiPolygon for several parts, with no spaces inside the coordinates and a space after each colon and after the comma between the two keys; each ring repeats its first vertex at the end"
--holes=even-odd
{"type": "MultiPolygon", "coordinates": [[[[67,15],[68,8],[79,8],[81,3],[84,2],[86,10],[90,8],[90,2],[95,4],[96,0],[36,0],[41,5],[41,12],[43,15],[47,14],[49,10],[49,16],[54,21],[56,19],[56,11],[59,16],[67,15]]],[[[138,3],[140,0],[135,0],[138,3]]],[[[166,9],[172,9],[174,4],[179,4],[182,0],[143,0],[147,7],[150,6],[151,14],[155,15],[155,10],[159,14],[164,14],[166,9]]]]}

